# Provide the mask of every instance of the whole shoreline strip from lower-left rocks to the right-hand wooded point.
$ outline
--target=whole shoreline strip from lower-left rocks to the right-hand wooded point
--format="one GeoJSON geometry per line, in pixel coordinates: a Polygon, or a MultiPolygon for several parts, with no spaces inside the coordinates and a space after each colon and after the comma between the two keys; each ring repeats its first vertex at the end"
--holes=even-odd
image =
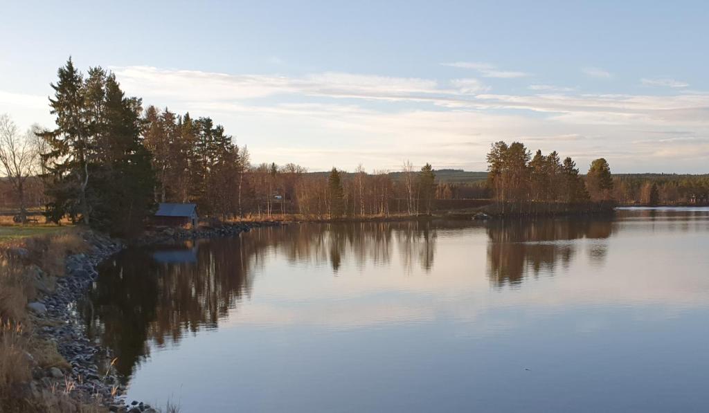
{"type": "MultiPolygon", "coordinates": [[[[627,208],[627,205],[617,206],[627,208]]],[[[632,206],[637,207],[638,205],[632,206]]],[[[495,221],[508,218],[524,220],[553,217],[588,218],[612,215],[614,211],[615,207],[610,210],[595,211],[593,213],[579,213],[578,211],[559,213],[559,211],[556,211],[547,215],[508,214],[503,216],[491,215],[489,218],[495,221]]],[[[89,247],[89,251],[66,256],[65,276],[56,278],[55,289],[45,290],[39,288],[41,293],[35,300],[28,303],[28,309],[33,318],[33,324],[35,324],[35,329],[31,335],[55,343],[58,353],[65,358],[67,365],[63,368],[38,368],[35,366],[32,380],[22,391],[28,392],[28,395],[42,397],[43,392],[52,387],[60,385],[63,390],[65,383],[72,383],[71,389],[67,391],[67,396],[77,402],[97,402],[111,412],[157,412],[149,404],[142,402],[126,404],[130,402],[124,398],[127,389],[120,384],[121,378],[112,367],[112,361],[114,360],[113,349],[101,346],[101,344],[89,339],[82,319],[82,313],[78,310],[79,305],[84,302],[92,283],[99,276],[98,267],[127,247],[148,247],[186,239],[230,237],[242,232],[250,232],[250,230],[258,227],[280,227],[291,223],[420,222],[438,219],[474,220],[476,215],[479,214],[481,214],[480,210],[416,216],[364,217],[364,219],[234,222],[203,227],[195,231],[165,227],[147,230],[142,237],[133,242],[111,238],[93,231],[82,232],[82,238],[89,247]]],[[[35,277],[41,282],[44,271],[34,264],[31,264],[29,268],[31,271],[35,271],[35,277]],[[32,269],[32,267],[35,268],[32,269]]],[[[68,384],[66,385],[67,387],[69,386],[68,384]]]]}

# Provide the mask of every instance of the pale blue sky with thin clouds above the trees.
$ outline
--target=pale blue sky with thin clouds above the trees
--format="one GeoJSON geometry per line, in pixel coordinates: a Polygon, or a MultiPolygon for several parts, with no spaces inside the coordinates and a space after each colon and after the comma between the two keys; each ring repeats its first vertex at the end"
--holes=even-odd
{"type": "Polygon", "coordinates": [[[0,113],[52,127],[69,56],[252,162],[486,169],[498,140],[709,172],[705,1],[8,1],[0,113]],[[656,4],[657,3],[657,4],[656,4]]]}

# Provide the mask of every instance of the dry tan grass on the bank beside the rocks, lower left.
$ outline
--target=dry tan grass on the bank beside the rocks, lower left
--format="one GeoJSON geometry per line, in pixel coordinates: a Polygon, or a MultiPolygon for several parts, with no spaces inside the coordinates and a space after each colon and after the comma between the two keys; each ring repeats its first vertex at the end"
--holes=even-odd
{"type": "MultiPolygon", "coordinates": [[[[0,412],[107,412],[98,400],[78,403],[69,393],[73,383],[60,383],[39,394],[18,392],[27,386],[32,375],[30,358],[41,368],[71,368],[57,351],[57,344],[33,336],[33,322],[27,312],[28,300],[35,296],[30,274],[34,266],[42,268],[48,277],[64,274],[67,254],[87,251],[77,227],[56,225],[0,226],[0,412]],[[20,259],[6,254],[9,247],[27,249],[28,256],[20,259]]],[[[37,327],[51,323],[41,320],[37,327]]]]}

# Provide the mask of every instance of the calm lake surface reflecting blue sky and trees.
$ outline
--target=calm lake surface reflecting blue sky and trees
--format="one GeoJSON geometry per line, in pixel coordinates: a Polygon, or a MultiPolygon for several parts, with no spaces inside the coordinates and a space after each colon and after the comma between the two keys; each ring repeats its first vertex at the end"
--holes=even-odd
{"type": "Polygon", "coordinates": [[[706,412],[709,209],[291,225],[104,266],[86,323],[182,412],[706,412]]]}

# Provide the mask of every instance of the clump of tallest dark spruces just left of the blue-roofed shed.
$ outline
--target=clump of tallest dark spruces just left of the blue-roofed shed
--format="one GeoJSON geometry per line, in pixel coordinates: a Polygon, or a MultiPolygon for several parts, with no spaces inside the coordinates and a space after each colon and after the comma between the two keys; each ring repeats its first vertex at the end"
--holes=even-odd
{"type": "Polygon", "coordinates": [[[43,154],[53,176],[49,216],[80,214],[87,225],[113,234],[140,231],[155,186],[140,138],[140,99],[125,97],[115,75],[100,67],[83,81],[69,60],[59,78],[50,99],[57,129],[40,133],[50,147],[43,154]]]}

